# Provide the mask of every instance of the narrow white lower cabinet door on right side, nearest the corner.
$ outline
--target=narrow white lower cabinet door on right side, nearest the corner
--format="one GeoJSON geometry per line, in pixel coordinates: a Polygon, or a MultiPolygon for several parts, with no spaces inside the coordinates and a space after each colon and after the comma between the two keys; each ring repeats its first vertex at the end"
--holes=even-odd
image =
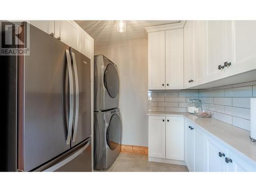
{"type": "Polygon", "coordinates": [[[194,172],[195,170],[195,159],[194,159],[194,130],[190,130],[190,124],[186,121],[184,126],[185,131],[185,163],[190,172],[194,172]]]}

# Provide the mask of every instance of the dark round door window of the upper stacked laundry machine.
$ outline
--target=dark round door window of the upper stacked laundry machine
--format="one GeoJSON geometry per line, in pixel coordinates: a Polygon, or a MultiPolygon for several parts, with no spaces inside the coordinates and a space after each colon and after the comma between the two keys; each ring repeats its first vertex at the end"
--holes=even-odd
{"type": "Polygon", "coordinates": [[[112,98],[115,98],[119,89],[118,73],[114,65],[109,63],[104,72],[104,86],[112,98]]]}

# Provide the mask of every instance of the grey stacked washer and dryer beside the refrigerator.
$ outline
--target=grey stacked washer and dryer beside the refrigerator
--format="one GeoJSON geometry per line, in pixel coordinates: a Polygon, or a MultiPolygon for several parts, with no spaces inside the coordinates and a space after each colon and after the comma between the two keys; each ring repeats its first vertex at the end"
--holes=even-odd
{"type": "Polygon", "coordinates": [[[117,66],[94,56],[94,168],[106,169],[120,152],[122,123],[118,109],[117,66]]]}

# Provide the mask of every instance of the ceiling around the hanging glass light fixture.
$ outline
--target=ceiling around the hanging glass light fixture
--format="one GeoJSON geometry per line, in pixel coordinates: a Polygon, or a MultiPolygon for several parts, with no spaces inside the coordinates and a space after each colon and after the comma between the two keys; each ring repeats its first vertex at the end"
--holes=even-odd
{"type": "Polygon", "coordinates": [[[126,20],[126,31],[117,31],[116,20],[76,20],[84,31],[94,38],[95,46],[115,44],[120,41],[145,39],[145,27],[179,23],[180,20],[126,20]]]}

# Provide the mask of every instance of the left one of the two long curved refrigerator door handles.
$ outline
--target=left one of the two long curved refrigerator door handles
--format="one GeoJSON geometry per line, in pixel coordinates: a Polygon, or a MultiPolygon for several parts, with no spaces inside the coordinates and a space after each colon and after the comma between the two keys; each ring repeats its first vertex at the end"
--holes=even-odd
{"type": "Polygon", "coordinates": [[[68,135],[66,144],[70,144],[71,133],[72,133],[72,125],[73,125],[73,117],[74,117],[74,84],[73,84],[73,73],[72,73],[72,65],[70,52],[66,49],[67,61],[68,61],[68,70],[69,70],[69,125],[68,125],[68,135]]]}

